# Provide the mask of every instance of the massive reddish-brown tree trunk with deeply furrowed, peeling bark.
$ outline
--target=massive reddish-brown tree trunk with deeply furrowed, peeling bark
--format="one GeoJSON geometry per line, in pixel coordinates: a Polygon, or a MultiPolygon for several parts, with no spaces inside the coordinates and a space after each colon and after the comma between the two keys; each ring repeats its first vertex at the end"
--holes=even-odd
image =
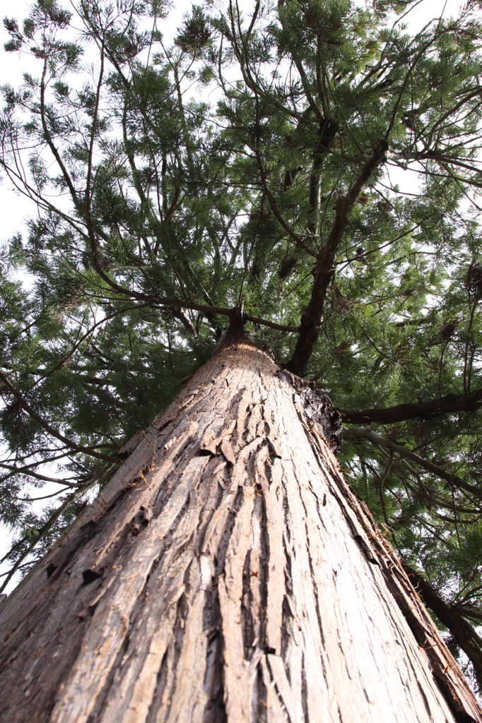
{"type": "Polygon", "coordinates": [[[2,721],[482,722],[290,377],[238,341],[154,419],[2,606],[2,721]]]}

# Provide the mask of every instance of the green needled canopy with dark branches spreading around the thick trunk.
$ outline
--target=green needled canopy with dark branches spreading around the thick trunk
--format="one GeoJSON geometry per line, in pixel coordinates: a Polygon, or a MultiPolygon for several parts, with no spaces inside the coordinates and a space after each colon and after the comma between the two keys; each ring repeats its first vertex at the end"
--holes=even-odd
{"type": "Polygon", "coordinates": [[[482,686],[481,8],[413,33],[416,4],[206,0],[172,42],[163,0],[4,20],[38,67],[1,88],[34,204],[0,260],[5,582],[241,319],[328,391],[347,479],[482,686]]]}

